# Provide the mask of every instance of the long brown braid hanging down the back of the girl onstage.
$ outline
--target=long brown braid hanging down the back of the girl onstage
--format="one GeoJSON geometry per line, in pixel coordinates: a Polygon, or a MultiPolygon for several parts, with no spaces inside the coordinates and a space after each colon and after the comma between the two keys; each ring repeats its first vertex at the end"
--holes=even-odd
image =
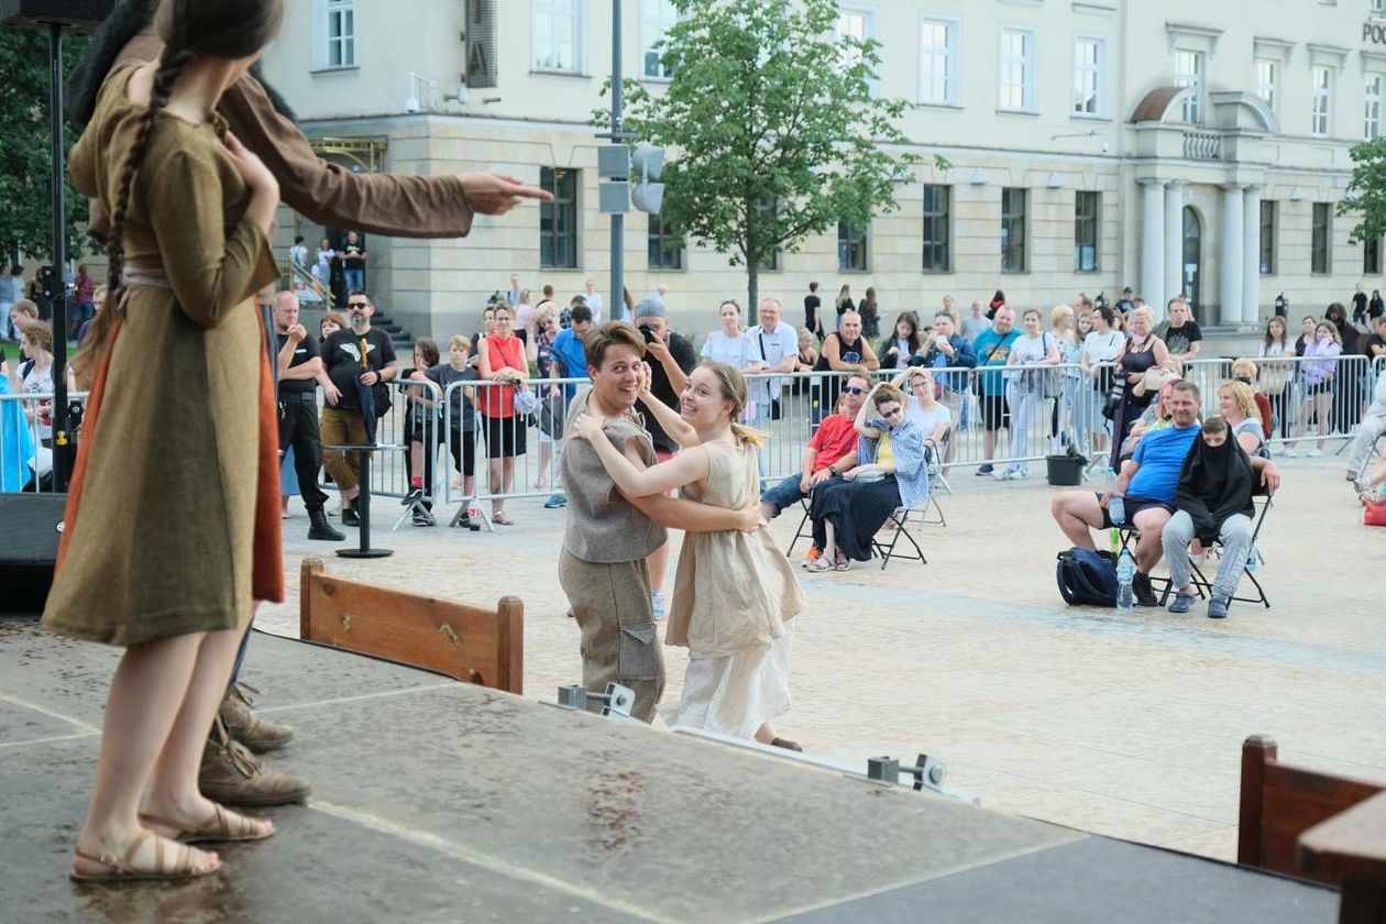
{"type": "Polygon", "coordinates": [[[141,161],[144,161],[144,151],[150,144],[154,121],[159,111],[168,105],[173,85],[177,82],[183,68],[194,57],[197,55],[186,48],[173,51],[168,46],[164,47],[158,69],[154,72],[154,85],[150,89],[150,105],[140,116],[140,127],[134,136],[134,144],[130,145],[130,154],[121,169],[121,179],[116,183],[114,197],[115,208],[111,212],[111,230],[105,241],[105,302],[103,302],[101,310],[91,321],[86,342],[83,342],[72,362],[78,374],[85,381],[90,381],[90,377],[96,373],[98,360],[107,349],[107,342],[115,331],[121,314],[125,312],[125,216],[130,206],[130,191],[134,187],[134,177],[140,172],[141,161]]]}

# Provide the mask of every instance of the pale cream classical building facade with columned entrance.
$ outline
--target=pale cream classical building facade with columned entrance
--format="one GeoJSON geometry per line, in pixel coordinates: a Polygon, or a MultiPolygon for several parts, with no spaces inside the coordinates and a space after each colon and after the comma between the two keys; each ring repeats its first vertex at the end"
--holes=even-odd
{"type": "MultiPolygon", "coordinates": [[[[667,82],[650,46],[672,4],[622,6],[626,76],[667,82]]],[[[606,292],[604,141],[589,116],[606,104],[608,0],[287,10],[266,73],[326,157],[505,170],[559,197],[484,219],[466,241],[369,241],[370,287],[394,313],[416,331],[470,331],[511,272],[564,296],[588,278],[606,292]]],[[[1357,283],[1382,287],[1379,241],[1351,242],[1336,202],[1350,147],[1380,132],[1386,0],[843,0],[839,29],[883,43],[879,91],[915,104],[902,129],[924,165],[897,183],[898,211],[762,274],[762,294],[791,308],[809,281],[829,301],[875,285],[887,314],[945,294],[1049,306],[1132,285],[1159,305],[1182,291],[1204,324],[1246,330],[1281,294],[1290,314],[1321,313],[1357,283]]],[[[625,226],[631,291],[665,285],[685,330],[711,330],[717,301],[744,292],[740,269],[671,244],[657,217],[625,226]]]]}

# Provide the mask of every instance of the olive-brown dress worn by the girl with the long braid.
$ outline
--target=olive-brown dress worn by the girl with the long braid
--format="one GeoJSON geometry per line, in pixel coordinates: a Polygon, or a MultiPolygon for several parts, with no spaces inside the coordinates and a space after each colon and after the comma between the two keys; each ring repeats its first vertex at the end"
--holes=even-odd
{"type": "MultiPolygon", "coordinates": [[[[72,150],[114,211],[144,107],[111,71],[72,150]]],[[[155,116],[125,220],[132,284],[97,370],[44,628],[111,644],[231,629],[283,598],[274,399],[252,294],[279,277],[218,125],[155,116]]]]}

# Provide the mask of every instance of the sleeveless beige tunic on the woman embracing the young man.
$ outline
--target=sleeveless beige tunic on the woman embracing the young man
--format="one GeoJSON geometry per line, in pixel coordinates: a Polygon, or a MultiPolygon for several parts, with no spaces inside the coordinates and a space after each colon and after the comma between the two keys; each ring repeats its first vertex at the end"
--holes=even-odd
{"type": "MultiPolygon", "coordinates": [[[[707,452],[708,460],[705,492],[689,486],[686,497],[739,510],[758,496],[750,446],[711,442],[685,452],[707,452]]],[[[687,646],[693,658],[764,648],[802,608],[794,568],[768,526],[753,533],[690,532],[679,551],[665,643],[687,646]]]]}

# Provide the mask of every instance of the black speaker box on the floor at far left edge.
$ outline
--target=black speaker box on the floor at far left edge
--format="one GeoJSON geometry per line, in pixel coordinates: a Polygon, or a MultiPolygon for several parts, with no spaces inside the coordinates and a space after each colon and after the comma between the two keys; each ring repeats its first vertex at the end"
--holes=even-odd
{"type": "Polygon", "coordinates": [[[43,612],[67,504],[67,495],[0,495],[0,612],[43,612]]]}

